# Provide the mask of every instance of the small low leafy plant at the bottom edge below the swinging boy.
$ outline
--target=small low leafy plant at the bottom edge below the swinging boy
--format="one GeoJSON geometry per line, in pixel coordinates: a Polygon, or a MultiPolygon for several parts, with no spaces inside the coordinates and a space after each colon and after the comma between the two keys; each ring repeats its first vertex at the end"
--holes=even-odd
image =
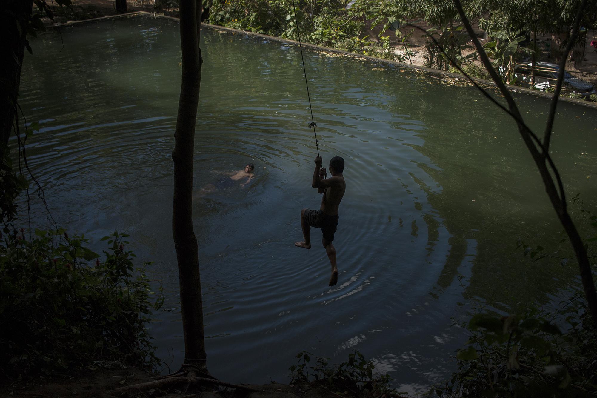
{"type": "MultiPolygon", "coordinates": [[[[381,375],[374,373],[375,366],[371,360],[366,360],[359,351],[348,354],[347,362],[340,365],[329,366],[329,358],[313,356],[312,353],[301,351],[297,354],[297,365],[290,366],[290,384],[301,382],[314,382],[340,393],[352,393],[359,395],[367,391],[378,391],[381,393],[392,393],[390,389],[390,378],[387,373],[381,375]],[[315,363],[309,366],[312,362],[315,363]],[[310,369],[310,371],[309,371],[310,369]]],[[[376,395],[376,394],[374,394],[376,395]]]]}

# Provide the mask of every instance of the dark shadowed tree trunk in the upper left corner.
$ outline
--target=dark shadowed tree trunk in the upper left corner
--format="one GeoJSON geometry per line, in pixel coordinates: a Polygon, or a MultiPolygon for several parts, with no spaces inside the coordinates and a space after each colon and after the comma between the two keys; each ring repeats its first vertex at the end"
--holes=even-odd
{"type": "Polygon", "coordinates": [[[0,5],[0,159],[13,129],[16,101],[21,84],[21,66],[26,42],[26,27],[33,12],[33,0],[4,0],[0,5]],[[2,145],[4,144],[4,145],[2,145]]]}

